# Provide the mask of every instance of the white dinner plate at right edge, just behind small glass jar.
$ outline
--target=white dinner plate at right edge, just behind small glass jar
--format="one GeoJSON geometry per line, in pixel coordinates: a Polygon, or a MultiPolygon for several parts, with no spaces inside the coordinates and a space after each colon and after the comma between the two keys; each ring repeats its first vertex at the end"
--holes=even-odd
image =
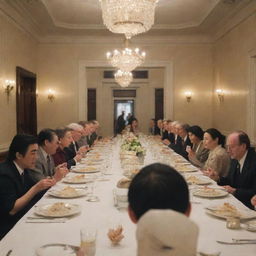
{"type": "Polygon", "coordinates": [[[241,220],[246,220],[246,219],[253,219],[256,218],[256,212],[250,209],[241,209],[241,208],[237,208],[237,211],[239,213],[239,216],[237,214],[232,214],[230,212],[224,212],[224,211],[220,211],[219,207],[221,205],[215,205],[215,206],[208,206],[206,208],[206,213],[209,215],[212,215],[214,217],[218,217],[221,219],[226,219],[229,217],[238,217],[241,220]]]}

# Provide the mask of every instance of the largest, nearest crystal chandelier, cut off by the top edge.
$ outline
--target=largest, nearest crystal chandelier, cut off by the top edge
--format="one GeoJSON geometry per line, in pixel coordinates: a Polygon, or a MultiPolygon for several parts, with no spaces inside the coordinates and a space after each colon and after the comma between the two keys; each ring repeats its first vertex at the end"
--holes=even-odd
{"type": "Polygon", "coordinates": [[[148,31],[154,24],[158,0],[99,0],[102,18],[113,33],[126,38],[148,31]]]}

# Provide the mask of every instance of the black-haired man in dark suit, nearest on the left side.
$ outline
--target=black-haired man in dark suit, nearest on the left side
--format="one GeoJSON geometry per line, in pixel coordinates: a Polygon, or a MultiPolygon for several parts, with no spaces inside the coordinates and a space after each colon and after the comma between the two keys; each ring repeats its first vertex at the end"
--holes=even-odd
{"type": "Polygon", "coordinates": [[[16,135],[6,162],[0,164],[0,239],[40,198],[41,191],[55,184],[53,179],[34,183],[27,169],[35,167],[37,138],[16,135]]]}

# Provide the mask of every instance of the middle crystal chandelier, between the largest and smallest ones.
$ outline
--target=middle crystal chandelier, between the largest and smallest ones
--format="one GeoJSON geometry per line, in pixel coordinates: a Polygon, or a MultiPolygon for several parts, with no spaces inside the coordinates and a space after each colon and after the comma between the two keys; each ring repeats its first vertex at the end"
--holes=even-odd
{"type": "Polygon", "coordinates": [[[125,48],[122,51],[114,50],[107,53],[110,64],[122,71],[130,72],[140,66],[145,61],[146,53],[139,48],[125,48]]]}

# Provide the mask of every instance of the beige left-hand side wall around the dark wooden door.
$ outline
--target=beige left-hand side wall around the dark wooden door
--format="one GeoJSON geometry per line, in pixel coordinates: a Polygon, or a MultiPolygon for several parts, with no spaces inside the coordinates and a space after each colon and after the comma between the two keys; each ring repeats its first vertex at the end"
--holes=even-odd
{"type": "Polygon", "coordinates": [[[8,102],[3,82],[16,80],[16,66],[36,72],[36,52],[37,43],[0,12],[0,151],[16,134],[16,88],[8,102]]]}

